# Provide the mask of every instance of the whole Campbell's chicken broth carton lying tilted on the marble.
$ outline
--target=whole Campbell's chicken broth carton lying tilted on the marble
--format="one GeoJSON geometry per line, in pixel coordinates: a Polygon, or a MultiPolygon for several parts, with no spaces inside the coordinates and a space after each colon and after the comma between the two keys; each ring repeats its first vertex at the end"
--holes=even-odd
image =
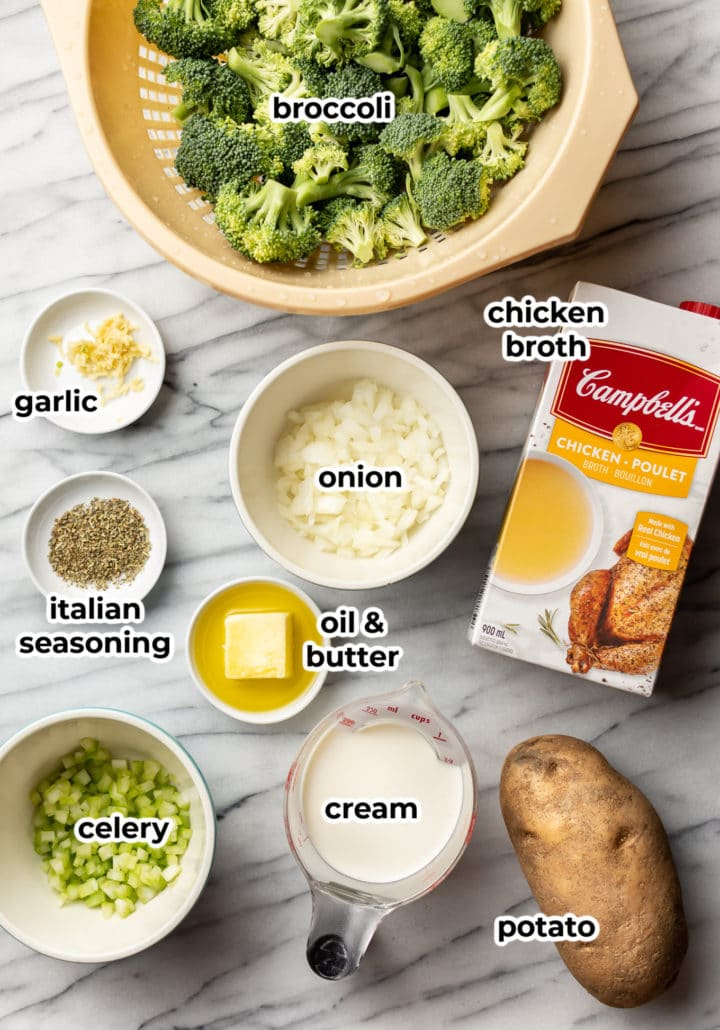
{"type": "Polygon", "coordinates": [[[608,323],[549,367],[470,639],[649,695],[718,464],[720,310],[573,300],[608,323]]]}

